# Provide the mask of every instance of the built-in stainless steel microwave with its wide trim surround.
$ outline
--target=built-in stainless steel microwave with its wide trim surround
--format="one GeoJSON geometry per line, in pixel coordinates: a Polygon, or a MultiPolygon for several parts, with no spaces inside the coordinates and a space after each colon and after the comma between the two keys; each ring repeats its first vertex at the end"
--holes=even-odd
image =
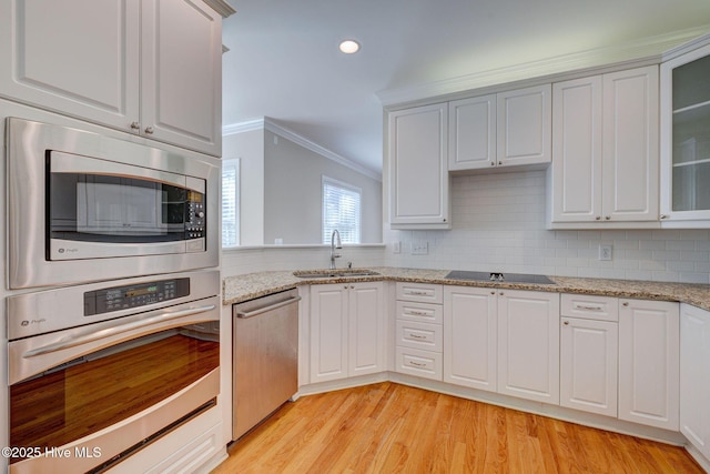
{"type": "Polygon", "coordinates": [[[219,265],[219,160],[16,118],[7,145],[11,289],[219,265]]]}

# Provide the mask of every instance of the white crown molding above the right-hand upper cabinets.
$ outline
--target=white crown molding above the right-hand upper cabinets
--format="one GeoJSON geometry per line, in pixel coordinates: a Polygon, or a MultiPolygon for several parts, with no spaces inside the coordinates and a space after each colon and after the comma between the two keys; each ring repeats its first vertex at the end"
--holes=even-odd
{"type": "MultiPolygon", "coordinates": [[[[552,74],[564,74],[580,69],[637,64],[640,61],[662,60],[663,52],[708,33],[710,26],[660,34],[610,48],[592,49],[570,54],[530,61],[511,67],[493,69],[458,78],[433,81],[377,92],[384,107],[415,102],[423,99],[523,81],[552,74]]],[[[633,67],[633,65],[630,65],[633,67]]]]}

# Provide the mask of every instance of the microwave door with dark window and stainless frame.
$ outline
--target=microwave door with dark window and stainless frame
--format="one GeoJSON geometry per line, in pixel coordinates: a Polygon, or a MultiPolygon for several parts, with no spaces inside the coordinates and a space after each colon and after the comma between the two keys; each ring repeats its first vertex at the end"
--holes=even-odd
{"type": "Polygon", "coordinates": [[[50,171],[49,260],[204,251],[204,180],[55,151],[50,171]]]}

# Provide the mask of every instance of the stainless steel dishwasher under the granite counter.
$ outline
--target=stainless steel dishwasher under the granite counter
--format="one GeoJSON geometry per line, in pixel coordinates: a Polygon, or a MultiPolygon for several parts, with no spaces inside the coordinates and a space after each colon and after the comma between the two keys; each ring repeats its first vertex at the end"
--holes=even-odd
{"type": "Polygon", "coordinates": [[[288,290],[233,307],[233,440],[298,391],[300,300],[288,290]]]}

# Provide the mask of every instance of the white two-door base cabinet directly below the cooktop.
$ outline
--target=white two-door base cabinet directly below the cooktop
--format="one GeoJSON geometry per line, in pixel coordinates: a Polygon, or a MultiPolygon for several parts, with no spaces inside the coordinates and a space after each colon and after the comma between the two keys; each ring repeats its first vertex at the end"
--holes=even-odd
{"type": "Polygon", "coordinates": [[[444,381],[559,403],[559,294],[444,290],[444,381]]]}

